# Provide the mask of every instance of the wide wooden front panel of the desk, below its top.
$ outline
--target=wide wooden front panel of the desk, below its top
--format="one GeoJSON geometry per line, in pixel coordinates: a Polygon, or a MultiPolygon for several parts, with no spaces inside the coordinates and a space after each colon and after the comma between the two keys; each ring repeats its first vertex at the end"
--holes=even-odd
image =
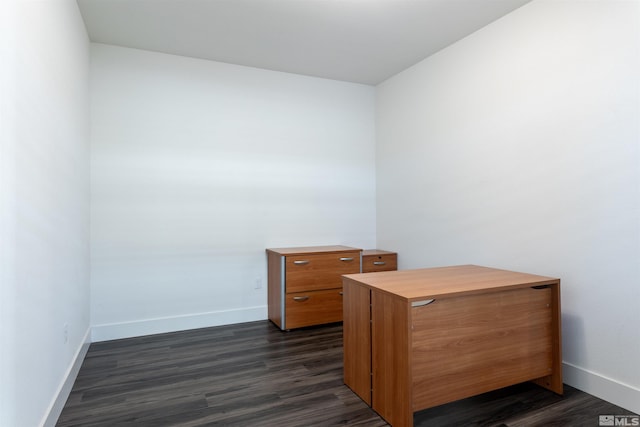
{"type": "Polygon", "coordinates": [[[413,410],[549,375],[551,303],[522,288],[413,308],[413,410]]]}

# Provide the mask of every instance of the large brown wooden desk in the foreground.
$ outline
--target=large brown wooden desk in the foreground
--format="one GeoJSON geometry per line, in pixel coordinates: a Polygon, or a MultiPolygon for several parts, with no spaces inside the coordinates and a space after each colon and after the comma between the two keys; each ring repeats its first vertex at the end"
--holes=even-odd
{"type": "Polygon", "coordinates": [[[349,274],[343,292],[344,382],[393,426],[524,381],[562,394],[559,279],[463,265],[349,274]]]}

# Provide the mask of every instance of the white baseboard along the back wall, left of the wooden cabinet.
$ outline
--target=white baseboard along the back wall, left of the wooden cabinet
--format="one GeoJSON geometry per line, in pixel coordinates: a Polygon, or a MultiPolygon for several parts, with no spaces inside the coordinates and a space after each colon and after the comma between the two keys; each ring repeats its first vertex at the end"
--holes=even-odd
{"type": "Polygon", "coordinates": [[[241,308],[236,310],[214,311],[209,313],[188,314],[184,316],[145,319],[133,322],[94,325],[91,341],[109,341],[121,338],[161,334],[165,332],[185,331],[210,326],[231,325],[253,322],[267,318],[267,306],[241,308]]]}

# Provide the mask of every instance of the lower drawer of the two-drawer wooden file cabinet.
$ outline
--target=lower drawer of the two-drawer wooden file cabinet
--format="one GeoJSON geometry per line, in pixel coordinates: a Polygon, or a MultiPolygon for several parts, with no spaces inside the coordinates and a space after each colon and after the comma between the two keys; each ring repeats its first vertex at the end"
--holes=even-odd
{"type": "Polygon", "coordinates": [[[285,296],[285,328],[301,328],[342,321],[342,287],[285,296]]]}

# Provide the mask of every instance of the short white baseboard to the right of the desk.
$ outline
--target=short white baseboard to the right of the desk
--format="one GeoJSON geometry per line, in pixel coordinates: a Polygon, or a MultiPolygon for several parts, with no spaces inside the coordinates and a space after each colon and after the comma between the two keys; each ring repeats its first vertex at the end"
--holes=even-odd
{"type": "Polygon", "coordinates": [[[562,364],[562,374],[565,384],[640,414],[640,389],[567,362],[562,364]]]}

